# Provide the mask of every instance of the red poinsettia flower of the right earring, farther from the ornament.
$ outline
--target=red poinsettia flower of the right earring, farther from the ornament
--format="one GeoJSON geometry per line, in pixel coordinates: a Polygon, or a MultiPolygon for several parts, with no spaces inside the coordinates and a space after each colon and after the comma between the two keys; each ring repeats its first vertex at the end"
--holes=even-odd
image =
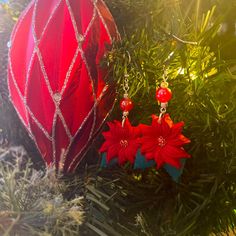
{"type": "Polygon", "coordinates": [[[180,160],[190,155],[183,149],[183,145],[190,140],[181,134],[183,122],[174,124],[168,114],[160,122],[159,117],[152,115],[152,124],[140,125],[142,137],[139,139],[141,153],[147,160],[155,160],[157,168],[169,164],[181,168],[180,160]]]}

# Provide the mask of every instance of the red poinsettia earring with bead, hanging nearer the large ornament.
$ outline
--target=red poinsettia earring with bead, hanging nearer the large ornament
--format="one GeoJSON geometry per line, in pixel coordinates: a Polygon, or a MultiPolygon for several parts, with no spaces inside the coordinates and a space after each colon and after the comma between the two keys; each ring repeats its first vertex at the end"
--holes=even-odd
{"type": "Polygon", "coordinates": [[[103,132],[105,142],[100,148],[100,152],[105,153],[106,163],[102,164],[102,166],[106,166],[113,159],[117,160],[119,165],[123,165],[126,162],[133,164],[139,148],[138,137],[140,136],[140,130],[137,127],[133,127],[128,119],[129,112],[133,109],[133,102],[128,95],[128,78],[129,76],[125,74],[123,83],[124,97],[120,101],[120,109],[123,112],[122,122],[117,120],[108,122],[110,130],[103,132]]]}

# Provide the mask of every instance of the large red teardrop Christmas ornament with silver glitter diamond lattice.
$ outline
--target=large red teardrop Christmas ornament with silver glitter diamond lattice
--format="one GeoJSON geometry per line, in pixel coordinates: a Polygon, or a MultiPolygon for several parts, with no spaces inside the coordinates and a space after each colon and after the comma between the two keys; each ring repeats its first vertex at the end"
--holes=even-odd
{"type": "Polygon", "coordinates": [[[74,171],[112,109],[100,60],[119,34],[102,0],[34,0],[9,51],[12,103],[47,165],[74,171]]]}

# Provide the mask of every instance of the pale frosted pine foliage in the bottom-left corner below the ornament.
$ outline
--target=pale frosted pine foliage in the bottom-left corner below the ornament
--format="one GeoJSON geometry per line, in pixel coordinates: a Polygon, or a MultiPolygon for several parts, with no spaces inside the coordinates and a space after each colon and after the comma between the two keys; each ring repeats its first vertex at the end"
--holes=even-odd
{"type": "Polygon", "coordinates": [[[82,198],[65,200],[68,184],[54,170],[33,169],[21,147],[0,148],[0,157],[1,235],[79,235],[82,198]]]}

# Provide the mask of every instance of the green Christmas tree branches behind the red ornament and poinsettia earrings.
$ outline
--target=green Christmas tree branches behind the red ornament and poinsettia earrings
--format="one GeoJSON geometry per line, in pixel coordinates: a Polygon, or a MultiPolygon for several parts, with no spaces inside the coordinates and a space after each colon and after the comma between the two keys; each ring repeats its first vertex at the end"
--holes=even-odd
{"type": "MultiPolygon", "coordinates": [[[[5,37],[0,49],[1,136],[9,145],[22,144],[31,156],[38,156],[24,129],[18,128],[20,122],[7,100],[7,38],[28,1],[14,2],[1,5],[1,34],[5,37]]],[[[183,133],[191,140],[185,149],[191,158],[177,183],[163,169],[116,166],[101,170],[98,163],[88,167],[86,174],[79,170],[78,176],[86,180],[82,187],[86,219],[81,234],[234,235],[235,2],[106,2],[122,39],[114,43],[101,66],[110,68],[118,99],[124,93],[124,75],[129,75],[129,96],[135,105],[129,120],[132,125],[149,124],[151,114],[158,115],[155,93],[165,66],[173,93],[168,112],[174,122],[185,122],[183,133]]],[[[113,118],[121,119],[118,105],[110,120],[113,118]]],[[[102,136],[93,149],[98,150],[101,142],[102,136]]],[[[100,162],[96,153],[87,157],[93,164],[100,162]]],[[[70,186],[65,195],[73,198],[78,194],[81,188],[70,186]]]]}

